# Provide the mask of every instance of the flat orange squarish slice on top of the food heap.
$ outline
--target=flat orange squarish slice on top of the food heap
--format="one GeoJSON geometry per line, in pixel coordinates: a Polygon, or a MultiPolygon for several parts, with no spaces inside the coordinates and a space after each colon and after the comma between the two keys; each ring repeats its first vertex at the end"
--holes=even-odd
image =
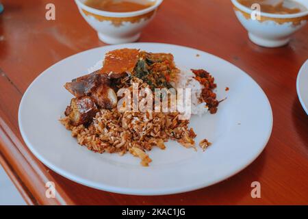
{"type": "Polygon", "coordinates": [[[133,73],[139,59],[138,49],[116,49],[105,55],[101,74],[112,79],[133,73]]]}

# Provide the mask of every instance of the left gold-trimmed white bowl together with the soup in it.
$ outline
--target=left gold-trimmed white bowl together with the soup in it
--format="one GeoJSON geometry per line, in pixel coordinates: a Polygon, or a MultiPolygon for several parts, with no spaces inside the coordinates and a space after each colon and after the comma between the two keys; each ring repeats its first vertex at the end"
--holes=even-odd
{"type": "Polygon", "coordinates": [[[107,44],[135,42],[163,0],[75,0],[79,12],[107,44]]]}

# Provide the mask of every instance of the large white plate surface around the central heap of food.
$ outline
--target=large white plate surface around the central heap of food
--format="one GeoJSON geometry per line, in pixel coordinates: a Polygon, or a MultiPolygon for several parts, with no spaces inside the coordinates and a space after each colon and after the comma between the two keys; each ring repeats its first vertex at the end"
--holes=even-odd
{"type": "Polygon", "coordinates": [[[122,194],[158,195],[188,192],[218,183],[240,170],[263,151],[272,131],[272,110],[266,94],[242,70],[214,55],[172,44],[135,43],[91,49],[45,70],[27,89],[18,113],[21,134],[38,159],[60,175],[83,185],[122,194]],[[85,75],[107,51],[138,48],[172,53],[186,68],[205,68],[216,78],[218,113],[193,116],[196,142],[212,146],[185,149],[168,142],[167,149],[149,152],[147,168],[132,155],[97,154],[79,146],[58,122],[72,96],[63,85],[85,75]],[[197,55],[198,54],[198,55],[197,55]],[[225,88],[230,90],[227,92],[225,88]]]}

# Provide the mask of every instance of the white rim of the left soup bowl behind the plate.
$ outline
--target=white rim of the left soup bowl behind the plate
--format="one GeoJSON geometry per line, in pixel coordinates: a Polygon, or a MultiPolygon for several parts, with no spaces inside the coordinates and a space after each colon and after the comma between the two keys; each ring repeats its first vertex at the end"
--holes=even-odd
{"type": "Polygon", "coordinates": [[[101,16],[110,16],[110,17],[122,18],[122,17],[139,16],[139,15],[142,15],[142,14],[146,14],[148,12],[152,12],[159,5],[161,5],[163,1],[164,0],[155,0],[155,3],[151,7],[145,8],[144,10],[138,10],[138,11],[135,11],[135,12],[107,12],[107,11],[91,8],[88,5],[85,5],[85,3],[81,0],[75,0],[75,3],[77,4],[77,6],[79,8],[85,9],[88,12],[91,12],[93,14],[97,14],[97,15],[101,15],[101,16]]]}

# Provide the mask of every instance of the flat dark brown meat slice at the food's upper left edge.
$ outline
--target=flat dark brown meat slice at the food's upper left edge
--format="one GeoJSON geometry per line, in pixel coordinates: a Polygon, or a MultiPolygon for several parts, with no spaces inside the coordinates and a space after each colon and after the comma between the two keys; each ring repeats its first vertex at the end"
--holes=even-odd
{"type": "Polygon", "coordinates": [[[99,74],[99,71],[84,75],[73,79],[72,82],[68,82],[64,85],[64,88],[76,97],[90,95],[96,90],[101,84],[108,86],[110,83],[106,75],[99,74]]]}

